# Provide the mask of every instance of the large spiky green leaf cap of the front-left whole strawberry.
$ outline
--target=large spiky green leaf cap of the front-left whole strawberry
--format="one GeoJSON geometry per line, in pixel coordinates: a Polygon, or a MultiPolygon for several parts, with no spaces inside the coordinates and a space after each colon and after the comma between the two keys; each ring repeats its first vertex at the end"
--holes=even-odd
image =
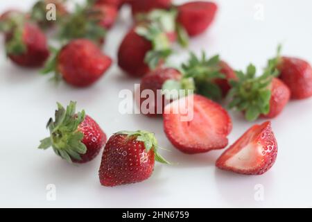
{"type": "Polygon", "coordinates": [[[84,135],[78,126],[84,120],[84,110],[76,114],[76,102],[71,101],[66,110],[58,103],[55,120],[49,119],[46,126],[50,130],[50,137],[42,139],[38,148],[46,150],[52,146],[57,155],[70,163],[72,160],[81,160],[80,154],[85,154],[87,147],[81,142],[84,135]]]}

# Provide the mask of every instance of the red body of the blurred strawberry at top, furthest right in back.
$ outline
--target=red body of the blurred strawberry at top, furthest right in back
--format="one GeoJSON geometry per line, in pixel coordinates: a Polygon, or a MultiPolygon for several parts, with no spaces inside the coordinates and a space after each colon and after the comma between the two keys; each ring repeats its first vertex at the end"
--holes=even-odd
{"type": "Polygon", "coordinates": [[[182,24],[190,36],[195,36],[204,33],[214,21],[218,6],[209,1],[192,1],[177,9],[177,22],[182,24]]]}

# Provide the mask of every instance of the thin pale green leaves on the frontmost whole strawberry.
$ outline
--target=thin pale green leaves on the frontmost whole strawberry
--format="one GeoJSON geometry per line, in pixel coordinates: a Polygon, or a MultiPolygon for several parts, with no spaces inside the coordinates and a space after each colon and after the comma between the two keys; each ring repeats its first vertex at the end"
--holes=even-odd
{"type": "Polygon", "coordinates": [[[153,152],[155,153],[155,160],[157,162],[161,162],[163,164],[170,164],[167,160],[164,159],[164,157],[162,157],[162,155],[158,153],[159,146],[158,146],[158,142],[154,133],[150,133],[144,130],[137,130],[133,132],[132,131],[120,131],[116,134],[127,135],[128,138],[135,137],[137,141],[144,143],[144,146],[147,152],[149,152],[151,149],[153,150],[153,152]]]}

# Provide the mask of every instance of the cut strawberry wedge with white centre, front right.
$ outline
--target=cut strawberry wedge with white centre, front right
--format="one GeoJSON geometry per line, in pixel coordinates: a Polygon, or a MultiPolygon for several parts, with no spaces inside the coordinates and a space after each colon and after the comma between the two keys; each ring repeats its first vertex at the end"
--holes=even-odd
{"type": "Polygon", "coordinates": [[[269,121],[254,125],[216,161],[216,167],[235,173],[261,175],[277,158],[277,141],[269,121]]]}

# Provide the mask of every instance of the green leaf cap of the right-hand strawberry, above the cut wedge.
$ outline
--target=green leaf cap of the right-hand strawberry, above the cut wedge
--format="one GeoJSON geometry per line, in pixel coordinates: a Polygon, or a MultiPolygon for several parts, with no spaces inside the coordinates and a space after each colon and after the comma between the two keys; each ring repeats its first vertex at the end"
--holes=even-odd
{"type": "Polygon", "coordinates": [[[229,108],[236,108],[245,112],[245,119],[254,121],[261,114],[270,112],[272,78],[278,75],[277,69],[270,67],[257,77],[256,67],[249,65],[246,73],[236,71],[239,80],[230,80],[232,89],[229,91],[229,108]]]}

